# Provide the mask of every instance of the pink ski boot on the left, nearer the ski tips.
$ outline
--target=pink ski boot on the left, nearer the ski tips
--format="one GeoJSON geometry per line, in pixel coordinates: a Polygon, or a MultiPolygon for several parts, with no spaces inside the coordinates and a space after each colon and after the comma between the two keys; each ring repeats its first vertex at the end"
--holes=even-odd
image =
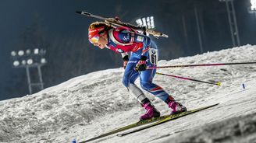
{"type": "Polygon", "coordinates": [[[140,117],[140,120],[147,120],[151,119],[152,117],[160,117],[160,112],[156,110],[155,106],[153,106],[150,102],[141,103],[141,106],[143,106],[144,109],[147,110],[147,113],[144,113],[144,115],[140,117]]]}

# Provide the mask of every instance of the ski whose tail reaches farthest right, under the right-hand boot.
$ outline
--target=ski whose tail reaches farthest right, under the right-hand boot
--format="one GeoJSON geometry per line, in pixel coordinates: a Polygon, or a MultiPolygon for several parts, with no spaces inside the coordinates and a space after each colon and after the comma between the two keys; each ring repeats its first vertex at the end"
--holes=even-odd
{"type": "Polygon", "coordinates": [[[169,120],[175,120],[175,119],[177,119],[177,118],[179,118],[179,117],[184,117],[184,116],[187,116],[187,115],[189,115],[189,114],[191,114],[191,113],[196,113],[196,112],[198,112],[198,111],[205,110],[205,109],[208,109],[208,108],[210,108],[210,107],[212,107],[212,106],[217,106],[217,105],[219,105],[219,103],[216,103],[216,104],[213,104],[213,105],[210,105],[210,106],[204,106],[204,107],[197,108],[197,109],[194,109],[194,110],[189,110],[189,111],[183,112],[183,113],[178,113],[178,114],[176,114],[176,115],[171,115],[171,116],[169,116],[169,117],[165,117],[165,118],[162,119],[162,120],[159,120],[158,122],[155,122],[155,123],[153,123],[153,124],[149,124],[148,126],[140,127],[140,128],[138,128],[138,129],[136,129],[136,130],[133,130],[133,131],[127,131],[127,132],[125,132],[125,133],[123,133],[123,134],[117,134],[117,136],[122,137],[122,136],[125,136],[125,135],[127,135],[127,134],[132,134],[132,133],[135,133],[135,132],[137,132],[137,131],[142,131],[142,130],[144,130],[144,129],[148,129],[149,127],[155,127],[155,126],[157,126],[157,125],[159,125],[159,124],[163,124],[163,123],[165,123],[165,122],[167,122],[167,121],[169,121],[169,120]]]}

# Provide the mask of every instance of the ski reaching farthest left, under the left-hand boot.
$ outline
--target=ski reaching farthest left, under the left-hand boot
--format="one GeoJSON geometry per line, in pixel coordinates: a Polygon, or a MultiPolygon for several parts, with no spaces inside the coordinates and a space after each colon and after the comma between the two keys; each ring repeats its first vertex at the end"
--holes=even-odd
{"type": "Polygon", "coordinates": [[[90,139],[88,139],[86,141],[81,141],[80,143],[94,141],[94,140],[99,139],[99,138],[104,138],[104,137],[106,137],[108,135],[116,134],[116,133],[118,133],[120,131],[129,130],[129,129],[133,128],[133,127],[139,127],[141,125],[150,124],[150,123],[156,122],[158,120],[164,120],[166,117],[169,117],[169,116],[170,115],[164,115],[164,116],[161,116],[161,117],[155,117],[155,118],[148,119],[148,120],[140,120],[140,121],[138,121],[136,123],[126,125],[125,127],[117,128],[116,130],[113,130],[113,131],[108,131],[105,134],[98,135],[98,136],[96,136],[94,138],[90,138],[90,139]]]}

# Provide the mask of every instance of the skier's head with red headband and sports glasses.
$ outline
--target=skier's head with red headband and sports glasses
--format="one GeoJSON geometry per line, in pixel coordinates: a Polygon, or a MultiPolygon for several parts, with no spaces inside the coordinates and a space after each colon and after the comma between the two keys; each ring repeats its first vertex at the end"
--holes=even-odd
{"type": "Polygon", "coordinates": [[[111,28],[106,23],[95,22],[91,23],[88,28],[88,39],[91,44],[103,49],[108,44],[108,30],[111,28]]]}

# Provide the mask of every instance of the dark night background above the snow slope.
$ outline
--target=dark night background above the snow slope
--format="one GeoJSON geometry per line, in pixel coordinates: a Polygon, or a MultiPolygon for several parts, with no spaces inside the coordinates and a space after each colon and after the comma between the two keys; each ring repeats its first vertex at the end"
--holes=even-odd
{"type": "MultiPolygon", "coordinates": [[[[247,12],[250,1],[235,0],[234,4],[241,45],[256,44],[256,16],[247,12]]],[[[219,0],[1,0],[0,100],[29,93],[25,69],[12,68],[11,51],[37,47],[47,51],[48,64],[42,67],[44,87],[123,65],[120,55],[88,42],[87,27],[97,19],[79,16],[76,10],[119,16],[123,22],[133,24],[142,16],[154,16],[155,29],[169,38],[153,40],[160,49],[160,59],[170,60],[201,53],[194,6],[201,23],[203,52],[233,47],[226,5],[219,0]]],[[[31,74],[36,77],[33,70],[31,74]]]]}

